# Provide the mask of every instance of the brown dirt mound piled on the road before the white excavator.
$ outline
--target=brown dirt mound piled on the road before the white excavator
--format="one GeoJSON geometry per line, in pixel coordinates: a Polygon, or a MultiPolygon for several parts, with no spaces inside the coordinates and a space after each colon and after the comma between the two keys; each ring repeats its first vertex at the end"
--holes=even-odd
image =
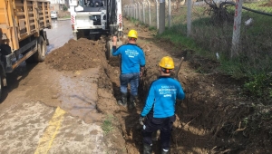
{"type": "Polygon", "coordinates": [[[106,63],[103,52],[103,40],[92,41],[81,38],[78,41],[70,40],[62,47],[48,54],[45,60],[53,69],[58,71],[77,71],[94,68],[106,63]]]}

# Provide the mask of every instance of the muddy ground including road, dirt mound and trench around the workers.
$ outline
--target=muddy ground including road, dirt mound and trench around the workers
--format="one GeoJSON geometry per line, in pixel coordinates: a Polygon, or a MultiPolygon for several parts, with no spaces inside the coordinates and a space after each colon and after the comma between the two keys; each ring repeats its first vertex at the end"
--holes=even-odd
{"type": "MultiPolygon", "coordinates": [[[[137,30],[137,43],[146,55],[136,108],[117,104],[120,68],[106,58],[106,39],[73,41],[69,29],[61,27],[69,21],[57,24],[50,30],[55,44],[49,46],[45,62],[26,63],[8,74],[0,104],[0,153],[142,153],[138,120],[149,86],[159,75],[157,64],[166,55],[176,65],[185,57],[178,80],[186,99],[176,104],[171,154],[272,151],[266,134],[251,134],[236,125],[249,112],[248,102],[238,95],[242,82],[218,72],[219,63],[123,20],[124,35],[137,30]],[[57,38],[62,36],[67,42],[57,38]]],[[[160,153],[160,138],[154,137],[153,143],[152,153],[160,153]]]]}

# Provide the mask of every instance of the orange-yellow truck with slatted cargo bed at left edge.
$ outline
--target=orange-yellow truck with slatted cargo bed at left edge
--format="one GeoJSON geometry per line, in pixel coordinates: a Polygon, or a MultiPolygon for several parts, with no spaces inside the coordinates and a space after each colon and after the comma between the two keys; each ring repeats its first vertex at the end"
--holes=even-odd
{"type": "Polygon", "coordinates": [[[51,27],[49,1],[0,0],[0,93],[6,73],[25,61],[44,62],[49,44],[44,29],[51,27]]]}

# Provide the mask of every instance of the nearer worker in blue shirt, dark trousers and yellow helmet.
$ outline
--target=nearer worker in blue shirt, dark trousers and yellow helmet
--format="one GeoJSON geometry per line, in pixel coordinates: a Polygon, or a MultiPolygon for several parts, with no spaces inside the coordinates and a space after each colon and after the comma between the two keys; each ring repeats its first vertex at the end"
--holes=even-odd
{"type": "Polygon", "coordinates": [[[185,93],[180,82],[170,77],[174,62],[170,56],[160,60],[160,77],[151,83],[145,106],[141,111],[140,124],[143,125],[143,153],[151,154],[152,133],[160,130],[161,153],[170,150],[170,135],[176,120],[176,99],[183,100],[185,93]]]}

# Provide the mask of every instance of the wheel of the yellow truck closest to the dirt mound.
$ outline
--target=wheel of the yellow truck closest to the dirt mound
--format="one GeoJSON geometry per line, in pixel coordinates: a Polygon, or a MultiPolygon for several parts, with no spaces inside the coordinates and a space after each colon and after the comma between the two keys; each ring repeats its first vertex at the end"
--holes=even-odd
{"type": "Polygon", "coordinates": [[[37,63],[44,62],[46,52],[47,52],[46,41],[44,41],[44,38],[40,36],[37,39],[37,52],[34,53],[33,55],[34,61],[37,63]]]}

